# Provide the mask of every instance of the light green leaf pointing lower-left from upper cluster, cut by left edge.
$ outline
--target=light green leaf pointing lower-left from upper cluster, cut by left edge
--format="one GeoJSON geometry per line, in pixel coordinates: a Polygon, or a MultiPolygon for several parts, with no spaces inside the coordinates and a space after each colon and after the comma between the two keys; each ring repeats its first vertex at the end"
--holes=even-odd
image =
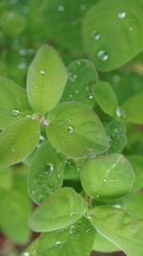
{"type": "Polygon", "coordinates": [[[39,140],[40,125],[24,118],[0,133],[0,168],[20,162],[34,150],[39,140]]]}

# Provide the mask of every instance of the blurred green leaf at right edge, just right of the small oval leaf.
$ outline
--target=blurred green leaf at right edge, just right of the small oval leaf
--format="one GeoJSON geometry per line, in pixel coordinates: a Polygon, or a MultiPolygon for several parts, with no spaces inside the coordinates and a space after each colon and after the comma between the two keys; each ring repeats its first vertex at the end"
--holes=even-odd
{"type": "Polygon", "coordinates": [[[133,97],[129,98],[123,108],[125,110],[125,120],[133,124],[143,124],[143,92],[135,94],[133,97]]]}

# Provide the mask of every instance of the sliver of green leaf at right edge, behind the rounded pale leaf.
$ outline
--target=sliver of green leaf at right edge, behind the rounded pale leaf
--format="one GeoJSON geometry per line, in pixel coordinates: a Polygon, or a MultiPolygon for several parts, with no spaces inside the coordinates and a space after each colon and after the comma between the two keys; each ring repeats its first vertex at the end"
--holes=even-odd
{"type": "Polygon", "coordinates": [[[143,187],[143,157],[142,155],[129,155],[128,159],[133,165],[135,173],[135,182],[133,184],[133,190],[137,191],[143,187]]]}

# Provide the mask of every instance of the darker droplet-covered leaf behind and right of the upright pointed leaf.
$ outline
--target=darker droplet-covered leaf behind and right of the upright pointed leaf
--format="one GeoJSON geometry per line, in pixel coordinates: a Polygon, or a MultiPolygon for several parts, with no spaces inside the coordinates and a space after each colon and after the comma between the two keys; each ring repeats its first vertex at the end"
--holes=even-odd
{"type": "Polygon", "coordinates": [[[94,65],[87,59],[73,61],[69,67],[69,80],[62,96],[62,102],[78,102],[93,107],[92,87],[98,77],[94,65]]]}

